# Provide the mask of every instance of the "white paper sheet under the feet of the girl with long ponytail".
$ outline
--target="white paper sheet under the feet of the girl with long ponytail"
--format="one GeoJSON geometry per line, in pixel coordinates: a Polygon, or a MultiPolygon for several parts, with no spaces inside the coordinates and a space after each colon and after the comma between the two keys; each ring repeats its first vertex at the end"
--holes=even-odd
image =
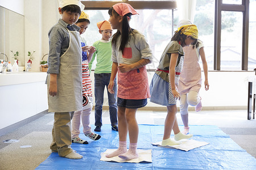
{"type": "Polygon", "coordinates": [[[102,161],[114,161],[114,162],[130,162],[130,163],[140,163],[140,162],[152,162],[152,154],[151,150],[140,150],[138,149],[139,158],[137,159],[131,159],[131,160],[123,160],[119,158],[118,156],[114,156],[112,158],[106,158],[106,154],[110,154],[111,152],[114,152],[117,149],[107,149],[105,152],[101,153],[101,159],[102,161]]]}

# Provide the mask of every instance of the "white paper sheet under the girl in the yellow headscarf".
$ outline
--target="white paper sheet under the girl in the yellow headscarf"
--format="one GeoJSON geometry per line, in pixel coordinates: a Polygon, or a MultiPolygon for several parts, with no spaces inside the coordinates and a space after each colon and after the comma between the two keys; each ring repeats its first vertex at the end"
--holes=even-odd
{"type": "Polygon", "coordinates": [[[176,148],[176,149],[183,150],[183,151],[189,151],[189,150],[192,150],[194,148],[201,147],[201,146],[209,144],[208,142],[200,142],[200,141],[196,141],[196,140],[193,140],[193,139],[183,139],[180,142],[181,142],[180,145],[172,145],[172,146],[169,146],[169,145],[168,146],[162,146],[162,141],[152,143],[152,145],[156,145],[156,146],[159,146],[159,147],[166,147],[166,148],[176,148]]]}

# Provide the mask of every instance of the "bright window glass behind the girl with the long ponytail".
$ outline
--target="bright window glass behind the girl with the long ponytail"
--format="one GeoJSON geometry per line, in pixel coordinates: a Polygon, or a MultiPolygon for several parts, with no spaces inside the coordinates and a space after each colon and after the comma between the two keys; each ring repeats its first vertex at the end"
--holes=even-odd
{"type": "MultiPolygon", "coordinates": [[[[144,3],[146,4],[146,2],[144,3]]],[[[171,4],[171,2],[169,3],[171,4]]],[[[146,6],[152,8],[150,4],[146,6]]],[[[141,9],[140,7],[137,9],[135,6],[133,7],[139,15],[133,15],[131,17],[130,27],[137,29],[146,37],[152,53],[154,54],[154,60],[147,65],[147,69],[155,70],[159,65],[159,59],[162,56],[164,48],[166,48],[174,31],[176,31],[178,18],[176,17],[174,19],[174,15],[177,11],[170,9],[168,6],[166,9],[164,9],[165,6],[162,7],[163,9],[141,9]],[[172,20],[174,20],[176,25],[172,23],[172,20]]],[[[98,32],[96,23],[102,20],[109,20],[108,8],[104,10],[86,10],[85,7],[84,12],[89,15],[90,25],[82,37],[87,41],[87,45],[92,45],[93,42],[101,39],[101,34],[98,32]]],[[[115,33],[115,31],[113,33],[115,33]]],[[[96,63],[94,62],[92,69],[94,69],[95,66],[96,63]]]]}

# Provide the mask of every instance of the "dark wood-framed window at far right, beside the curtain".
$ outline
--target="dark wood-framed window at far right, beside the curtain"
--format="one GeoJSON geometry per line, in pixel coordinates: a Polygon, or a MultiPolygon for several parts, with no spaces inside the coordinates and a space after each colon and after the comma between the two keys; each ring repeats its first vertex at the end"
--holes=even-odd
{"type": "Polygon", "coordinates": [[[215,1],[214,70],[248,70],[249,0],[221,2],[215,1]]]}

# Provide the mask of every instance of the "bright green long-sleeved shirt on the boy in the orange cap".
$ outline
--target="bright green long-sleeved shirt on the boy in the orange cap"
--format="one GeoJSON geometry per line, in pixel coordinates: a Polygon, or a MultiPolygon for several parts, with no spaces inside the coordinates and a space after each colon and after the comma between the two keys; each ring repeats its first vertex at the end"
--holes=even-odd
{"type": "Polygon", "coordinates": [[[92,60],[89,63],[89,70],[92,69],[92,63],[96,58],[96,68],[94,73],[111,73],[112,70],[112,45],[110,41],[98,40],[93,43],[96,52],[93,53],[92,60]]]}

